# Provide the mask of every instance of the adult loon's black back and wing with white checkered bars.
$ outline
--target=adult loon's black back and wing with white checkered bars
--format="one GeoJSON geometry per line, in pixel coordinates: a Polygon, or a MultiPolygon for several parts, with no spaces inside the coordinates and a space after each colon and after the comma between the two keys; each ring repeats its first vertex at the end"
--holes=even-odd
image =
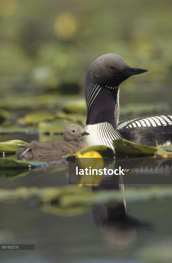
{"type": "Polygon", "coordinates": [[[172,144],[172,115],[146,116],[118,122],[116,131],[137,144],[156,146],[172,144]]]}

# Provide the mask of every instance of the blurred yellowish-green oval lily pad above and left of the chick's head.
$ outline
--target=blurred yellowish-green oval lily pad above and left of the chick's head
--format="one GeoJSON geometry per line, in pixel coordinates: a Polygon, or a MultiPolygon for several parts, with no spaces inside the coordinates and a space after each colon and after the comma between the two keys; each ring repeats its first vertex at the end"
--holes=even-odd
{"type": "Polygon", "coordinates": [[[22,118],[18,118],[17,123],[21,125],[37,124],[38,122],[46,121],[46,120],[53,120],[54,118],[56,118],[55,114],[52,114],[51,112],[47,110],[39,110],[39,111],[35,111],[32,113],[26,114],[22,118]]]}

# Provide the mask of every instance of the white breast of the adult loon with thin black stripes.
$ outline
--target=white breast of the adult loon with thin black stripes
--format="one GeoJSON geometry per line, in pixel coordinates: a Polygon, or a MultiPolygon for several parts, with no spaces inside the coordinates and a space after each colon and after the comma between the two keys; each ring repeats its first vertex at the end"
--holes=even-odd
{"type": "Polygon", "coordinates": [[[89,133],[83,136],[83,141],[88,145],[107,145],[114,149],[112,141],[121,138],[120,134],[109,122],[86,125],[84,131],[89,133]]]}

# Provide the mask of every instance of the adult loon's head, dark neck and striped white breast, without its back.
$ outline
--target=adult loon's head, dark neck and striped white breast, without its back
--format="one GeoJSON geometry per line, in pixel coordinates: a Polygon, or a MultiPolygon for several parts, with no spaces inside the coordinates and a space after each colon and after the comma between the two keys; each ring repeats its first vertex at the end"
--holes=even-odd
{"type": "Polygon", "coordinates": [[[148,70],[131,68],[121,56],[106,54],[97,58],[85,77],[87,121],[84,130],[90,133],[85,143],[113,147],[112,140],[122,136],[116,131],[119,119],[119,85],[132,75],[148,70]]]}

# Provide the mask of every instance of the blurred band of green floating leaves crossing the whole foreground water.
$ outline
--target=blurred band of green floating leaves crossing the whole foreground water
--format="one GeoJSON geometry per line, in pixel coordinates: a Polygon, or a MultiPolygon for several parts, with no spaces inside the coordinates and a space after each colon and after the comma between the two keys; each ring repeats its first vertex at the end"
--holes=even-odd
{"type": "Polygon", "coordinates": [[[7,199],[38,198],[40,209],[56,215],[72,216],[84,213],[92,205],[106,204],[109,202],[148,201],[172,197],[172,187],[152,186],[148,188],[126,188],[125,192],[119,190],[99,190],[92,192],[87,187],[61,186],[46,187],[20,187],[14,190],[0,189],[0,201],[7,199]]]}

